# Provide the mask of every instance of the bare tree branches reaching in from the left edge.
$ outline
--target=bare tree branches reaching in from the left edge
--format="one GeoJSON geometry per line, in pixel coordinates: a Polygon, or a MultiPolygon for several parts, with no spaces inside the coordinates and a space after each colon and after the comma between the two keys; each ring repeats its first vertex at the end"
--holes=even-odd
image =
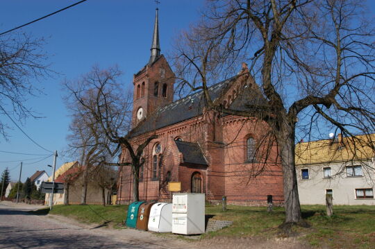
{"type": "MultiPolygon", "coordinates": [[[[11,33],[0,36],[0,114],[24,121],[35,117],[35,112],[26,106],[28,96],[35,96],[38,89],[33,80],[49,76],[51,71],[42,52],[44,40],[30,35],[11,33]]],[[[10,128],[2,119],[0,134],[6,138],[10,128]]]]}

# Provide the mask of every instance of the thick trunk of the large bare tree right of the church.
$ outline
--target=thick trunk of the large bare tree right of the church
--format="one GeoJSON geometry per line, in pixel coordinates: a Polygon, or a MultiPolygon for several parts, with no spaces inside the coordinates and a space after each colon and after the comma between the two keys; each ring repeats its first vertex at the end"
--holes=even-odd
{"type": "Polygon", "coordinates": [[[299,223],[302,219],[297,187],[297,173],[294,162],[294,128],[294,124],[283,123],[281,134],[278,136],[284,179],[284,224],[299,223]]]}

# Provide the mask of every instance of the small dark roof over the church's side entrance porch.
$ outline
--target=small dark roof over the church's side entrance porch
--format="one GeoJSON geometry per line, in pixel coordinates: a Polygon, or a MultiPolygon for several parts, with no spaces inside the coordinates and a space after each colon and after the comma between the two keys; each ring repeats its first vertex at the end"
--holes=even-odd
{"type": "Polygon", "coordinates": [[[208,165],[198,143],[175,141],[178,151],[183,154],[183,162],[188,164],[208,165]]]}

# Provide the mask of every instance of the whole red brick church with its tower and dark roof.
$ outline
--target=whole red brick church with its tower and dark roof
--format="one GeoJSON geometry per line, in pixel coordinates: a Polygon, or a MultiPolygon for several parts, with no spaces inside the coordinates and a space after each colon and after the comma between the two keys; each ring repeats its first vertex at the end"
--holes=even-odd
{"type": "MultiPolygon", "coordinates": [[[[241,71],[246,70],[243,64],[241,71]]],[[[174,82],[174,72],[160,54],[156,10],[149,62],[133,77],[132,143],[136,146],[153,134],[158,136],[144,148],[140,200],[169,200],[168,182],[181,182],[181,192],[205,193],[213,203],[226,196],[232,204],[265,205],[268,195],[275,204],[283,203],[276,145],[269,141],[267,153],[256,153],[261,150],[256,144],[267,137],[267,123],[206,111],[202,92],[174,101],[174,82]]],[[[212,85],[209,91],[215,103],[235,110],[263,101],[249,74],[212,85]]],[[[124,149],[120,160],[128,157],[124,149]]],[[[123,166],[118,203],[132,201],[132,186],[131,167],[123,166]]]]}

